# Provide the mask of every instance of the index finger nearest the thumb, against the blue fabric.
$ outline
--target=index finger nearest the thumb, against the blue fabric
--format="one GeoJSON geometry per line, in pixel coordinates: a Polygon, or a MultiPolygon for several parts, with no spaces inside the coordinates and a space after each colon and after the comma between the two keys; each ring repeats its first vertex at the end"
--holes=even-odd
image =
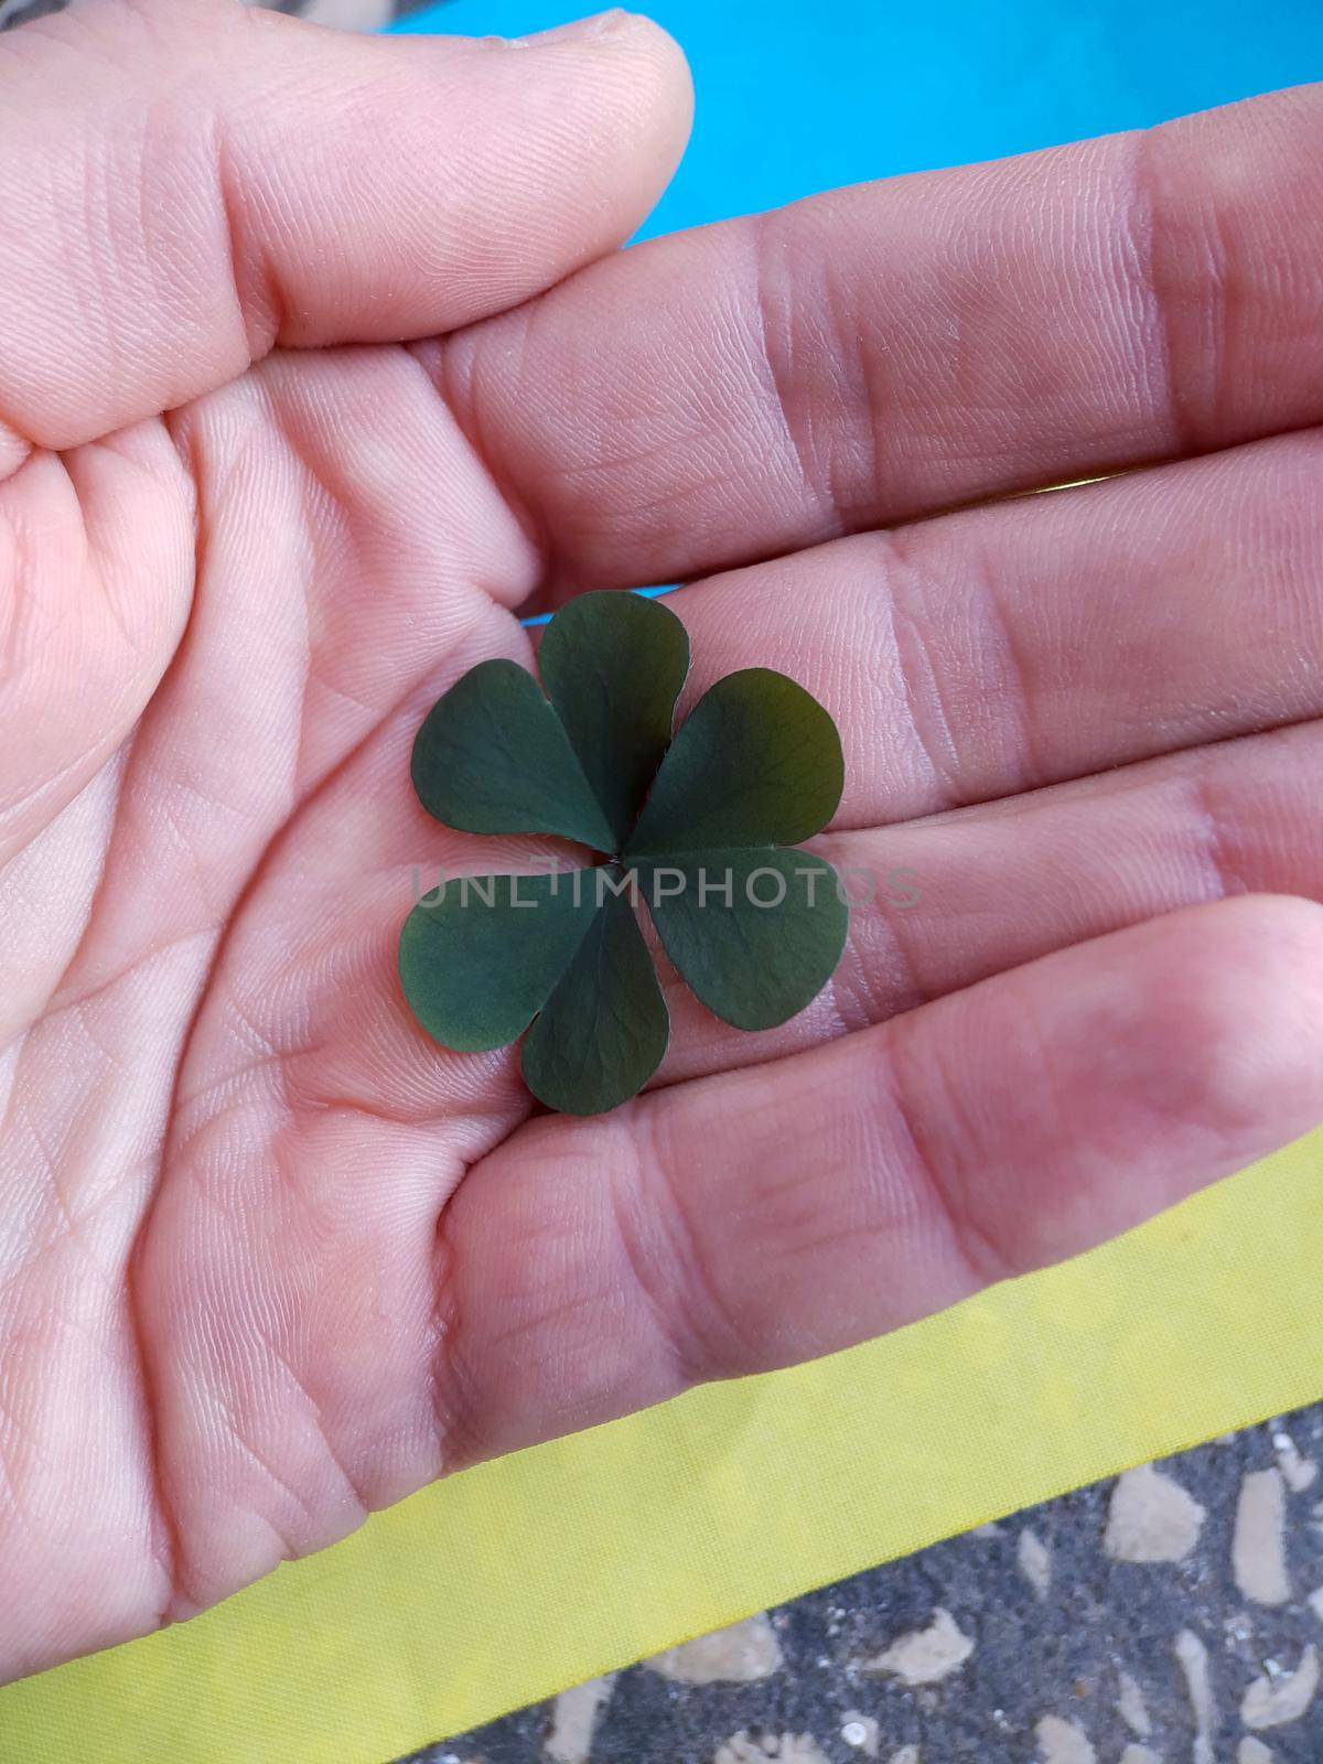
{"type": "Polygon", "coordinates": [[[626,252],[432,356],[557,591],[1323,420],[1323,88],[626,252]]]}

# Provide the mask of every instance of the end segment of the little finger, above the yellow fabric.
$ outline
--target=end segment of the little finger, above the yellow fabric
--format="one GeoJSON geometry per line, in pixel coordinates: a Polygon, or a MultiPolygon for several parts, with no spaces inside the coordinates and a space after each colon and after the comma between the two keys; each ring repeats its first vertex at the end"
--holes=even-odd
{"type": "Polygon", "coordinates": [[[1028,1272],[1323,1122],[1323,908],[1189,907],[901,1025],[905,1113],[951,1214],[979,1252],[1028,1272]]]}

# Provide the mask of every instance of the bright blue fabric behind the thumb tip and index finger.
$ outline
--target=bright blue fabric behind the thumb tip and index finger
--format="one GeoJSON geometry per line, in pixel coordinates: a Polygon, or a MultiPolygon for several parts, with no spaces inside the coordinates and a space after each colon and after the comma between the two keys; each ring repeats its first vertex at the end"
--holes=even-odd
{"type": "MultiPolygon", "coordinates": [[[[699,93],[693,146],[646,235],[1323,79],[1321,0],[632,4],[684,46],[699,93]]],[[[513,37],[593,9],[450,0],[397,28],[513,37]]]]}

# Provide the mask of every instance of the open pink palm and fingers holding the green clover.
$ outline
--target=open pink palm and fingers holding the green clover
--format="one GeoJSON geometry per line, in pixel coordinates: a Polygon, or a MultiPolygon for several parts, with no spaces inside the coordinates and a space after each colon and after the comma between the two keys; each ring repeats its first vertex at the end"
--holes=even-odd
{"type": "Polygon", "coordinates": [[[642,23],[102,0],[0,90],[0,1674],[1323,1118],[1323,93],[540,293],[681,148],[642,23]],[[681,577],[688,702],[817,693],[884,880],[783,1030],[670,986],[649,1095],[531,1118],[393,951],[536,847],[409,744],[519,610],[681,577]]]}

